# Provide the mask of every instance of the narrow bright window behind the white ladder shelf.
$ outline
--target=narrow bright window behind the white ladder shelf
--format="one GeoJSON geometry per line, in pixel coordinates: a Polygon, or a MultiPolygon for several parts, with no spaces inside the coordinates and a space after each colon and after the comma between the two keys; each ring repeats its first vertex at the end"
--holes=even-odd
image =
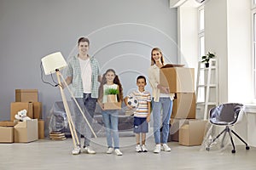
{"type": "MultiPolygon", "coordinates": [[[[255,0],[256,1],[256,0],[255,0]]],[[[201,56],[205,54],[205,34],[204,34],[204,29],[205,29],[205,19],[204,19],[204,8],[200,7],[198,8],[198,60],[201,61],[201,56]]],[[[199,84],[204,84],[205,82],[205,75],[204,71],[200,73],[199,78],[199,84]]],[[[204,102],[205,101],[205,90],[204,88],[198,88],[197,92],[197,102],[204,102]]]]}

